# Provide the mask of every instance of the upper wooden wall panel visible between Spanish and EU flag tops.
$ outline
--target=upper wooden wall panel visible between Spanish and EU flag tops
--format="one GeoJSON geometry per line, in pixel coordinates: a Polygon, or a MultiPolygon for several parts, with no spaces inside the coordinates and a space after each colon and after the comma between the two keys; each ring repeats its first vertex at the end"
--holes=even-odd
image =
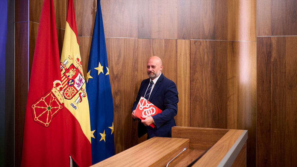
{"type": "Polygon", "coordinates": [[[78,6],[75,12],[78,36],[92,37],[97,10],[97,1],[76,0],[76,6],[78,6]]]}

